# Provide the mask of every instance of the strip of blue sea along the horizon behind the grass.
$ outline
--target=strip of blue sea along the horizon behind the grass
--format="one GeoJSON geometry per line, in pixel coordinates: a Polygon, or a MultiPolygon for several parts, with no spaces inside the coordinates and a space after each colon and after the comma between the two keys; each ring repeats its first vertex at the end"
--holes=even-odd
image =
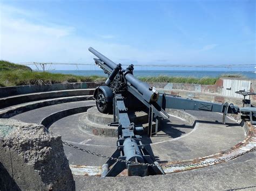
{"type": "MultiPolygon", "coordinates": [[[[103,70],[49,70],[51,73],[73,74],[82,76],[107,76],[103,70]]],[[[206,71],[206,70],[134,70],[133,75],[136,77],[147,76],[178,76],[178,77],[219,77],[222,74],[239,74],[248,79],[256,79],[256,73],[253,72],[239,72],[239,71],[206,71]]]]}

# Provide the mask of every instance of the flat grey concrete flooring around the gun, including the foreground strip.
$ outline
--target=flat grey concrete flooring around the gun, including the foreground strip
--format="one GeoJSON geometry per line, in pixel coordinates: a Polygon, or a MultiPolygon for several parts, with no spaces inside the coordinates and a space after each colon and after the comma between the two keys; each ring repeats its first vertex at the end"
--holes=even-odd
{"type": "MultiPolygon", "coordinates": [[[[12,118],[29,123],[39,123],[53,112],[63,109],[91,105],[95,101],[70,102],[24,112],[12,118]]],[[[221,124],[222,115],[213,112],[187,111],[198,119],[194,128],[186,121],[170,117],[165,121],[158,136],[143,137],[150,144],[157,160],[173,161],[203,157],[226,150],[245,138],[244,129],[231,119],[221,124]]],[[[78,118],[83,114],[71,115],[53,123],[49,130],[62,135],[73,145],[104,155],[116,150],[117,138],[98,137],[82,132],[78,118]]],[[[64,146],[66,157],[73,165],[101,166],[105,159],[64,146]]],[[[169,175],[139,177],[98,178],[74,176],[77,190],[88,189],[234,189],[255,185],[255,151],[223,164],[194,171],[169,175]]],[[[255,189],[250,188],[250,189],[255,189]]],[[[255,189],[256,190],[256,189],[255,189]]]]}

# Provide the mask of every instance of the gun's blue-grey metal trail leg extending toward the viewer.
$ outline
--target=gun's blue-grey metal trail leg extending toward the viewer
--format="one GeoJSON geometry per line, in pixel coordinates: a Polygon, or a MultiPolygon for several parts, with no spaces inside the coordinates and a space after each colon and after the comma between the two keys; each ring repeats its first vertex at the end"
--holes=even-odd
{"type": "MultiPolygon", "coordinates": [[[[156,162],[154,157],[149,154],[145,146],[142,144],[142,137],[136,135],[136,127],[130,122],[127,114],[127,108],[124,105],[124,97],[121,94],[114,96],[114,122],[112,125],[118,126],[118,140],[117,150],[113,153],[113,158],[118,158],[126,161],[134,162],[147,162],[154,164],[156,162]]],[[[122,161],[113,161],[109,159],[106,164],[103,165],[104,172],[102,176],[116,176],[127,168],[129,176],[146,176],[155,174],[164,174],[163,169],[152,166],[144,166],[137,164],[129,164],[122,161]],[[109,167],[112,168],[109,170],[109,167]]]]}

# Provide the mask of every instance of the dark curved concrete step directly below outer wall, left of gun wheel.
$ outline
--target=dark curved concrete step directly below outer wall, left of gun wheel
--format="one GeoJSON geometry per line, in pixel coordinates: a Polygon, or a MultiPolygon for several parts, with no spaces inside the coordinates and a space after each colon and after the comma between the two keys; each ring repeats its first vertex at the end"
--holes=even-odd
{"type": "Polygon", "coordinates": [[[45,91],[32,94],[23,94],[16,96],[9,96],[0,98],[0,109],[10,107],[11,105],[17,105],[26,102],[32,102],[37,100],[45,100],[57,97],[69,97],[80,95],[92,95],[94,89],[69,89],[59,91],[45,91]]]}

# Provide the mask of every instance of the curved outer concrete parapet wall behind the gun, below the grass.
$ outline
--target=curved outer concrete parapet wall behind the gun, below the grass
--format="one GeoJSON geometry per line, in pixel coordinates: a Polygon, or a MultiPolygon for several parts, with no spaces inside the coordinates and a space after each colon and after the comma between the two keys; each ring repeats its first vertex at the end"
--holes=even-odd
{"type": "MultiPolygon", "coordinates": [[[[160,92],[167,94],[179,95],[183,97],[190,97],[200,100],[207,100],[213,102],[230,102],[237,105],[241,105],[241,98],[235,98],[225,96],[224,80],[241,80],[234,78],[221,78],[214,85],[203,84],[186,84],[186,83],[167,83],[167,82],[149,82],[151,86],[159,89],[160,92]]],[[[256,80],[242,79],[243,81],[251,82],[251,91],[256,91],[256,80]]],[[[2,87],[0,88],[0,98],[8,97],[20,94],[30,94],[43,91],[56,91],[56,90],[68,90],[68,89],[86,89],[96,88],[103,85],[104,82],[79,82],[79,83],[56,83],[45,84],[44,86],[16,86],[16,87],[2,87]]],[[[252,103],[256,103],[256,95],[250,97],[252,103]]]]}

